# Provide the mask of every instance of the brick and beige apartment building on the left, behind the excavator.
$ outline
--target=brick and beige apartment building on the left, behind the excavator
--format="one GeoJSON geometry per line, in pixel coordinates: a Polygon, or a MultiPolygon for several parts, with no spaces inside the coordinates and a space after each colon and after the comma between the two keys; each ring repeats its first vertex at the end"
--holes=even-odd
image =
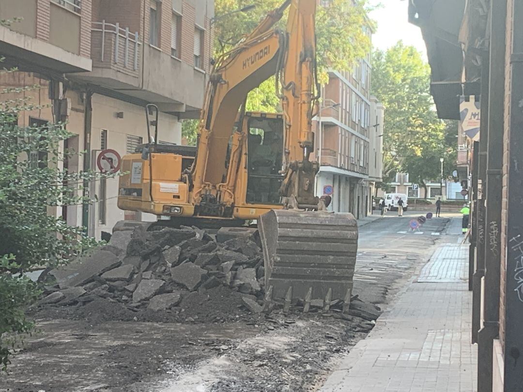
{"type": "MultiPolygon", "coordinates": [[[[158,142],[181,142],[183,118],[197,118],[210,71],[212,0],[2,0],[2,87],[38,84],[22,95],[44,107],[20,126],[67,121],[64,147],[86,151],[67,170],[97,170],[101,150],[124,155],[147,140],[144,106],[158,106],[158,142]]],[[[56,209],[100,238],[122,219],[154,219],[117,207],[118,179],[90,185],[99,201],[56,209]]]]}

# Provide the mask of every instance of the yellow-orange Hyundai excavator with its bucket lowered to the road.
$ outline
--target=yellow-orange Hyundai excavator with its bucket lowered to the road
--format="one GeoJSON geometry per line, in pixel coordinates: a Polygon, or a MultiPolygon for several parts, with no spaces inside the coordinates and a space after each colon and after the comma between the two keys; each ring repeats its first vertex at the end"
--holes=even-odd
{"type": "Polygon", "coordinates": [[[149,143],[124,156],[118,196],[119,208],[164,224],[257,220],[266,300],[285,298],[287,307],[301,300],[304,310],[312,300],[348,306],[358,241],[353,215],[327,212],[314,194],[315,13],[316,0],[287,0],[217,60],[196,149],[157,144],[158,111],[147,105],[149,143]],[[287,8],[286,30],[275,28],[287,8]],[[272,75],[283,113],[245,111],[249,91],[272,75]]]}

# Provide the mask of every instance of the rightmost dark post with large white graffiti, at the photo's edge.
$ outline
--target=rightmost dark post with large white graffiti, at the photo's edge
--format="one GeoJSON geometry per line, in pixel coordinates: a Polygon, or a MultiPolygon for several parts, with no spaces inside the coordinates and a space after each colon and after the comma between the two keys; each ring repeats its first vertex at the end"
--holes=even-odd
{"type": "Polygon", "coordinates": [[[521,97],[523,97],[523,2],[514,0],[512,25],[507,28],[512,31],[510,53],[510,118],[508,137],[508,195],[507,195],[507,227],[506,238],[507,256],[505,268],[505,307],[502,312],[505,330],[505,347],[503,350],[505,371],[504,390],[521,390],[523,385],[523,116],[521,116],[521,97]],[[503,317],[504,316],[504,317],[503,317]]]}

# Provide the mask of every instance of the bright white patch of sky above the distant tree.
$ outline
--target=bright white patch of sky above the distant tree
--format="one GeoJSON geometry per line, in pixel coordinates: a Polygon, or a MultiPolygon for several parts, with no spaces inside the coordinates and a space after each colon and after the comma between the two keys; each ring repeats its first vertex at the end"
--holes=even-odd
{"type": "Polygon", "coordinates": [[[370,0],[371,5],[381,4],[372,11],[371,18],[378,23],[378,31],[372,36],[372,44],[387,49],[399,41],[412,45],[427,58],[425,42],[419,27],[408,23],[408,0],[370,0]]]}

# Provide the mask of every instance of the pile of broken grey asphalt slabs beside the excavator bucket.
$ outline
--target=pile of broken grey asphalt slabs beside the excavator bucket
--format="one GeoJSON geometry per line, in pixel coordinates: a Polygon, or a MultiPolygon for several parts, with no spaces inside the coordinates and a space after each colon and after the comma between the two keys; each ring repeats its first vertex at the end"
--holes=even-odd
{"type": "Polygon", "coordinates": [[[234,295],[232,306],[262,310],[263,254],[254,237],[220,243],[197,227],[148,226],[120,227],[105,247],[49,272],[39,305],[81,307],[104,299],[134,312],[185,310],[234,295]]]}

